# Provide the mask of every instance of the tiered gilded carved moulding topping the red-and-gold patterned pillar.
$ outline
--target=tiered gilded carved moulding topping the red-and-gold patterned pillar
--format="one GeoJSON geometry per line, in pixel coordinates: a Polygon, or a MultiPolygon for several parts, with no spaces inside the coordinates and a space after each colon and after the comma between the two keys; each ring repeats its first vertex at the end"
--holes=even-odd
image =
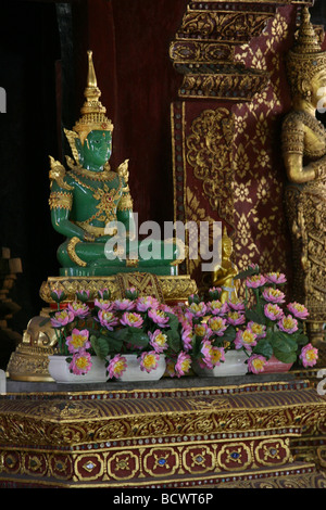
{"type": "Polygon", "coordinates": [[[235,48],[259,36],[274,15],[273,4],[190,2],[170,47],[184,75],[179,95],[250,101],[267,86],[268,73],[236,62],[235,48]]]}

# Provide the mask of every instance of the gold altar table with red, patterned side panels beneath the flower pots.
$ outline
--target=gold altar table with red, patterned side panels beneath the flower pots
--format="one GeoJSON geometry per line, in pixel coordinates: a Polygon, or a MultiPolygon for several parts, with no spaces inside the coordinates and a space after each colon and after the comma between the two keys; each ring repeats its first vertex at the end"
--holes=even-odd
{"type": "Polygon", "coordinates": [[[304,431],[325,429],[326,399],[308,380],[279,379],[164,378],[91,390],[9,380],[0,487],[326,488],[323,470],[293,456],[304,431]]]}

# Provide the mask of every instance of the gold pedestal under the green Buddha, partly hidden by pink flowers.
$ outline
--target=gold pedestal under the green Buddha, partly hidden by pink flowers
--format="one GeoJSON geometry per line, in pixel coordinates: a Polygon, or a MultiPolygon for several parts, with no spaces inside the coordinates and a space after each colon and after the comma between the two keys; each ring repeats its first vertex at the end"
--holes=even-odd
{"type": "Polygon", "coordinates": [[[89,291],[96,296],[101,289],[111,291],[112,299],[125,296],[126,289],[134,286],[139,295],[152,295],[161,303],[173,305],[185,302],[190,294],[197,293],[197,285],[189,276],[166,277],[141,272],[117,273],[111,277],[50,277],[40,288],[40,296],[47,303],[40,316],[34,317],[24,332],[23,342],[11,355],[7,371],[15,381],[53,381],[48,372],[48,357],[55,353],[54,330],[42,324],[49,308],[57,306],[51,292],[65,293],[65,303],[76,298],[76,292],[89,291]]]}

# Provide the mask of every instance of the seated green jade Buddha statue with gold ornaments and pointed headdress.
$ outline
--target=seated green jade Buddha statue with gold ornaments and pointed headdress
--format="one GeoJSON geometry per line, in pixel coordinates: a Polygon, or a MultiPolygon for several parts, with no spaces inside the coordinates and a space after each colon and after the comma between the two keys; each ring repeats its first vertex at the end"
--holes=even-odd
{"type": "Polygon", "coordinates": [[[66,156],[70,170],[50,156],[51,221],[66,238],[58,248],[60,275],[110,276],[135,270],[176,275],[184,258],[177,240],[137,239],[128,161],[116,171],[110,168],[113,125],[100,95],[89,51],[82,117],[72,130],[64,130],[73,154],[66,156]],[[114,243],[121,232],[124,242],[114,243]]]}

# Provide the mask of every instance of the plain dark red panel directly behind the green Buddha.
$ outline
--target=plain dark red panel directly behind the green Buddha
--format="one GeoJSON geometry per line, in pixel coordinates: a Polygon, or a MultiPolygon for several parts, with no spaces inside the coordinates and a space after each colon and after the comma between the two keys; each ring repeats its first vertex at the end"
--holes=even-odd
{"type": "Polygon", "coordinates": [[[88,0],[75,12],[78,110],[93,51],[101,101],[113,120],[116,168],[129,160],[139,221],[173,220],[171,103],[180,81],[168,56],[187,0],[88,0]]]}

